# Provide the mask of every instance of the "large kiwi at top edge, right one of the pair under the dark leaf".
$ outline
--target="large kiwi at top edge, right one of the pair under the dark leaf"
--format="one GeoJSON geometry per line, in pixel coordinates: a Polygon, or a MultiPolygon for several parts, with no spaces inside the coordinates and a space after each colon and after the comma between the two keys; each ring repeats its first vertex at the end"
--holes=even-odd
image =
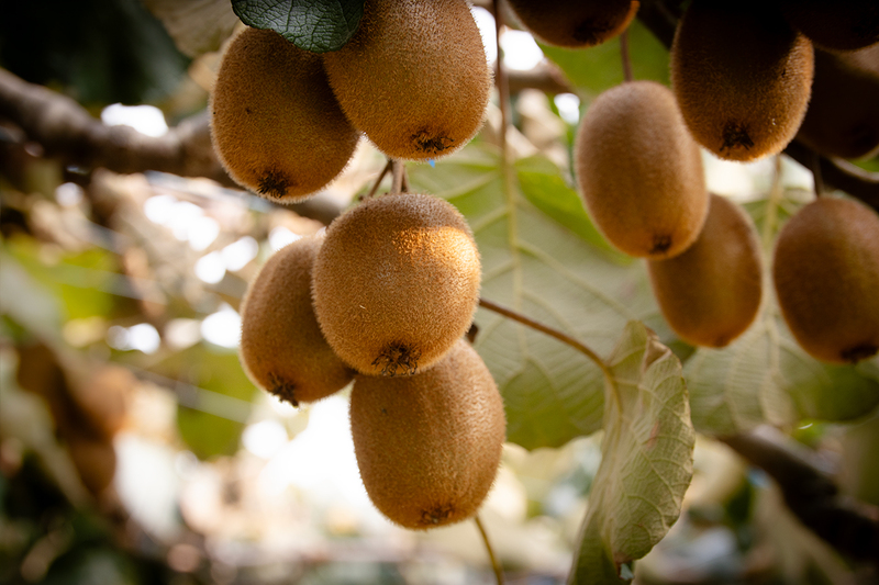
{"type": "Polygon", "coordinates": [[[491,72],[465,0],[367,0],[352,40],[323,58],[352,124],[389,157],[447,155],[482,124],[491,72]]]}

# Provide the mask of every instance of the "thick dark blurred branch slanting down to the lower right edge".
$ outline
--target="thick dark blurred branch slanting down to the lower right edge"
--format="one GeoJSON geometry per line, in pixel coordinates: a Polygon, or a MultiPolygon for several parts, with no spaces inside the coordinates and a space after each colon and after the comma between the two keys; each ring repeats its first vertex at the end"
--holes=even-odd
{"type": "Polygon", "coordinates": [[[879,510],[841,495],[808,451],[768,427],[722,440],[778,483],[805,527],[852,559],[878,562],[879,510]]]}

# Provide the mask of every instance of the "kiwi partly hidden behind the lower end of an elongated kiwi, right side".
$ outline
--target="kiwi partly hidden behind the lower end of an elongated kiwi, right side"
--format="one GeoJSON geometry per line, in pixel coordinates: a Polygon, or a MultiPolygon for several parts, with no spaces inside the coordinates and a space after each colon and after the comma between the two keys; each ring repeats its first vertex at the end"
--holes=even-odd
{"type": "Polygon", "coordinates": [[[711,195],[708,218],[692,246],[647,262],[666,320],[689,344],[724,347],[754,322],[763,267],[754,225],[734,202],[711,195]]]}

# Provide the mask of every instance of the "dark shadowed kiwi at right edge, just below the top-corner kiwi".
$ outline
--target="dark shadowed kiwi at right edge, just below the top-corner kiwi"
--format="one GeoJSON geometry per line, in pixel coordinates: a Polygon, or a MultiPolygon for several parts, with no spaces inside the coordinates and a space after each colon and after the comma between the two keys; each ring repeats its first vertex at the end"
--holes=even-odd
{"type": "Polygon", "coordinates": [[[877,104],[879,45],[845,54],[816,48],[812,100],[797,139],[825,156],[868,158],[879,150],[877,104]]]}

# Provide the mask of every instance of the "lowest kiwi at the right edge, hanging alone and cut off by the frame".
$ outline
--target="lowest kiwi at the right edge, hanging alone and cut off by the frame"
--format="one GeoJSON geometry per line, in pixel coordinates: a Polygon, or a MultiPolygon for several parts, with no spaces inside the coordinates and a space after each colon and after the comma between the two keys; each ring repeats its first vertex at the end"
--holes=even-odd
{"type": "Polygon", "coordinates": [[[830,363],[879,351],[879,215],[821,198],[791,217],[772,266],[778,303],[797,342],[830,363]]]}

